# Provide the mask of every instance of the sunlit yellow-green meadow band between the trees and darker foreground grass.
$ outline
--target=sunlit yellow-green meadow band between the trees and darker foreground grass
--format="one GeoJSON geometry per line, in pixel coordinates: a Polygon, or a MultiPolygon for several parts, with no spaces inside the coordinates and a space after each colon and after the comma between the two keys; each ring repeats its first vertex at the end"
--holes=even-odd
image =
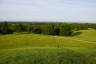
{"type": "Polygon", "coordinates": [[[84,30],[82,34],[75,37],[50,36],[40,34],[9,34],[0,35],[0,49],[22,48],[22,47],[86,47],[96,48],[95,30],[84,30]],[[90,36],[90,34],[94,36],[90,36]],[[93,38],[94,37],[94,38],[93,38]],[[87,40],[90,43],[74,39],[87,40]]]}

